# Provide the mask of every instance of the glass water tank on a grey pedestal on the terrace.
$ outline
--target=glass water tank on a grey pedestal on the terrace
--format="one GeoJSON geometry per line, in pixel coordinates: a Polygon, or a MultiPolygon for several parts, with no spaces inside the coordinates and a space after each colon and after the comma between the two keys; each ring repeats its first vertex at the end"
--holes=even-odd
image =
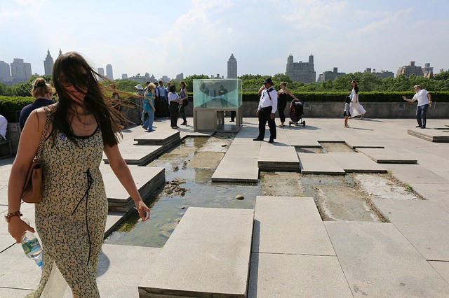
{"type": "Polygon", "coordinates": [[[239,131],[242,125],[240,79],[193,80],[193,90],[195,131],[239,131]],[[225,120],[226,114],[229,121],[225,120]]]}

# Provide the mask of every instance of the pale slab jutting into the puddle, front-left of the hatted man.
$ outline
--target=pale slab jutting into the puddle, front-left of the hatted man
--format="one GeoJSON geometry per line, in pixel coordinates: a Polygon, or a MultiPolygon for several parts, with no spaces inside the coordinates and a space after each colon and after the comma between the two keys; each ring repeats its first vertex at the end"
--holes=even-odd
{"type": "Polygon", "coordinates": [[[259,180],[257,155],[254,158],[227,157],[225,155],[213,173],[212,180],[217,182],[257,182],[259,180]]]}

